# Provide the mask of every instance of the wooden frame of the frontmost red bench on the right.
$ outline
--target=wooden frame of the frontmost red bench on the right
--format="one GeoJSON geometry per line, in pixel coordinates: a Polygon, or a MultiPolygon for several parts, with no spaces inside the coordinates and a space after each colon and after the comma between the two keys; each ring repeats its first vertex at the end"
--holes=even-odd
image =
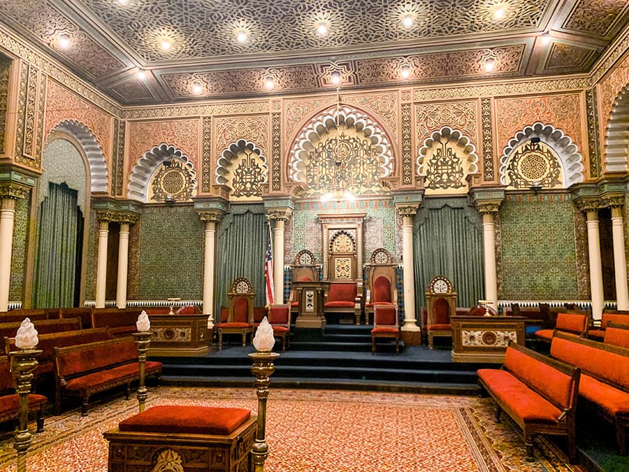
{"type": "Polygon", "coordinates": [[[510,369],[503,366],[500,370],[507,371],[514,378],[522,382],[526,387],[528,387],[532,392],[542,396],[545,400],[549,401],[552,405],[554,405],[559,410],[562,410],[563,413],[559,417],[559,422],[557,424],[549,424],[545,422],[523,422],[516,413],[509,402],[502,401],[491,389],[491,385],[487,385],[481,378],[479,378],[478,382],[481,387],[481,394],[484,392],[491,395],[493,400],[496,402],[496,422],[500,422],[500,413],[503,411],[509,415],[509,417],[514,420],[514,422],[522,429],[524,434],[524,443],[526,448],[526,457],[528,460],[533,460],[533,436],[537,434],[551,434],[551,435],[561,435],[567,436],[568,443],[568,456],[570,457],[570,463],[574,464],[577,462],[577,437],[576,437],[576,407],[577,407],[577,392],[579,389],[579,377],[580,377],[580,369],[578,367],[573,367],[563,362],[559,362],[556,359],[551,359],[550,357],[541,355],[539,352],[535,352],[534,350],[530,350],[525,348],[522,345],[513,343],[509,341],[508,348],[512,348],[522,352],[528,357],[535,359],[537,362],[542,362],[543,364],[547,364],[552,368],[564,373],[567,376],[572,378],[571,381],[571,391],[569,393],[570,404],[568,408],[563,408],[563,406],[559,405],[551,399],[547,394],[540,391],[539,389],[529,385],[526,380],[523,380],[521,376],[517,372],[511,371],[510,369]]]}

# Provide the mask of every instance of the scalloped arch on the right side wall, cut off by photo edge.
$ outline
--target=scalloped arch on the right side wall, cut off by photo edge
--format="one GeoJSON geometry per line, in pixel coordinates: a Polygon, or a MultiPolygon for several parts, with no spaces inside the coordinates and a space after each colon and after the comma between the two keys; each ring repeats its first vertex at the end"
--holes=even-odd
{"type": "Polygon", "coordinates": [[[609,115],[603,172],[629,171],[629,85],[619,93],[609,115]]]}

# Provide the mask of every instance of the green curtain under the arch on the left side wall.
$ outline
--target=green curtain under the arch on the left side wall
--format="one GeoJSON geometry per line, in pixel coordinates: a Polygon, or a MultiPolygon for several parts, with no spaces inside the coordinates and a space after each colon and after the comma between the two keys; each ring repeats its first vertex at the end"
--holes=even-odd
{"type": "Polygon", "coordinates": [[[48,196],[39,206],[34,308],[74,305],[75,274],[80,273],[77,234],[82,228],[77,194],[65,184],[49,183],[48,196]]]}

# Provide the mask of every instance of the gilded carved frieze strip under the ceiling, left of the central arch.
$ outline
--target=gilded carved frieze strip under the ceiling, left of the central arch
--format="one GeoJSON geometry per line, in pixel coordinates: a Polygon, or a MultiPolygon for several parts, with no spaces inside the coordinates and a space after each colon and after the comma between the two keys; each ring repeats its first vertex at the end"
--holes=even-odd
{"type": "Polygon", "coordinates": [[[213,115],[234,115],[240,113],[268,113],[269,101],[242,101],[217,104],[189,104],[177,106],[151,106],[142,108],[126,108],[122,117],[125,120],[143,120],[147,118],[183,118],[213,115]]]}

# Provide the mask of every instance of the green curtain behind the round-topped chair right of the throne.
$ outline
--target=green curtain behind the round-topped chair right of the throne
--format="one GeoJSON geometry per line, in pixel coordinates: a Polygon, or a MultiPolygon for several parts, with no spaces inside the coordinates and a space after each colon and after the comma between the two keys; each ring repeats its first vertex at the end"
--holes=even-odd
{"type": "Polygon", "coordinates": [[[483,234],[479,213],[467,199],[426,199],[413,224],[416,313],[435,276],[449,278],[456,305],[472,307],[484,294],[483,234]]]}

